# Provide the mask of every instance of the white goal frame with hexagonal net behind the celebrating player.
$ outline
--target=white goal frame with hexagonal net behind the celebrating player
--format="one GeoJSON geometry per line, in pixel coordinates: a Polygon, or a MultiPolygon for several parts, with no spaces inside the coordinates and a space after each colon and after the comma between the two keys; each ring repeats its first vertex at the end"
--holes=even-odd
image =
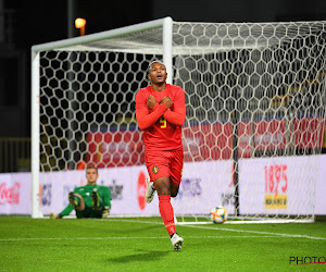
{"type": "Polygon", "coordinates": [[[186,94],[185,164],[173,200],[178,221],[209,219],[215,206],[237,220],[313,220],[325,27],[167,17],[34,46],[32,215],[49,213],[83,184],[80,161],[99,168],[113,215],[159,214],[143,201],[147,172],[135,118],[136,92],[159,59],[168,83],[186,94]],[[43,201],[46,193],[51,201],[43,201]]]}

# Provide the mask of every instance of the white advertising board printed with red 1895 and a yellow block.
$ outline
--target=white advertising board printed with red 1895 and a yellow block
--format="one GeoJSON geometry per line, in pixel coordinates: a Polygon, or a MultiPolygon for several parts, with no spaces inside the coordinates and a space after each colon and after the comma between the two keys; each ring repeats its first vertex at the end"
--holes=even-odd
{"type": "Polygon", "coordinates": [[[318,156],[240,160],[240,214],[312,214],[321,161],[318,156]]]}

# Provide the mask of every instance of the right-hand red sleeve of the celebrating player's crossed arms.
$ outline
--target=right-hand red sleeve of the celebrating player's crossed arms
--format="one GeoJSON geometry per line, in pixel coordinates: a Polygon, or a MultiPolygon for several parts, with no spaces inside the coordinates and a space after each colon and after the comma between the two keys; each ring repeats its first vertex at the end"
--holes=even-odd
{"type": "Polygon", "coordinates": [[[174,125],[184,125],[186,120],[186,99],[185,91],[181,88],[177,89],[174,103],[174,110],[167,110],[164,112],[163,118],[174,125]]]}

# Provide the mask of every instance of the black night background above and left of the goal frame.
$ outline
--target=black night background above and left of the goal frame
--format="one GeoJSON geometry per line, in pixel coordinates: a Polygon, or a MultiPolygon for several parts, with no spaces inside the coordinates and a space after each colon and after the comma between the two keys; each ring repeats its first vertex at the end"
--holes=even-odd
{"type": "Polygon", "coordinates": [[[79,35],[68,24],[70,1],[74,17],[87,20],[86,35],[164,16],[216,23],[326,20],[325,0],[0,0],[0,137],[30,137],[30,47],[79,35]]]}

